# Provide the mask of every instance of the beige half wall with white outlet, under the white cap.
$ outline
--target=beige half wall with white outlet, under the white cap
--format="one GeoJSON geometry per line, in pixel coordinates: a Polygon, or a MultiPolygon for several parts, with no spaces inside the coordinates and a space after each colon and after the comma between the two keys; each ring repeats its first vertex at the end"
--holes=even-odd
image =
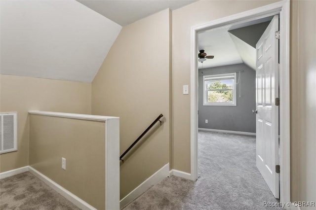
{"type": "Polygon", "coordinates": [[[30,166],[104,210],[105,122],[30,115],[30,166]]]}

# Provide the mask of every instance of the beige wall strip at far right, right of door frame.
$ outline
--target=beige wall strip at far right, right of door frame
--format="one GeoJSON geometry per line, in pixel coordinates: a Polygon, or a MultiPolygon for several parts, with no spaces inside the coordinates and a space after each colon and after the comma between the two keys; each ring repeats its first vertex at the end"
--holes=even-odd
{"type": "Polygon", "coordinates": [[[316,1],[292,2],[293,201],[316,201],[316,1]],[[296,18],[296,20],[293,20],[296,18]],[[295,25],[297,24],[297,27],[295,25]]]}

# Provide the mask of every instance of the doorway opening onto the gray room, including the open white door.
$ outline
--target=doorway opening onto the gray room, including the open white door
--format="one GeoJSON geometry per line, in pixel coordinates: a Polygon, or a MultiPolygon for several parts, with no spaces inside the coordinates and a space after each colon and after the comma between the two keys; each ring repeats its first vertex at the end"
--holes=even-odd
{"type": "Polygon", "coordinates": [[[220,170],[211,167],[214,169],[203,173],[214,176],[226,171],[219,176],[222,181],[212,185],[231,183],[240,192],[265,189],[262,194],[267,198],[272,192],[279,199],[279,175],[273,168],[279,159],[278,107],[272,102],[278,97],[278,88],[271,88],[278,86],[276,31],[278,15],[198,33],[198,163],[201,176],[205,171],[201,166],[223,165],[220,170]],[[210,52],[211,56],[205,55],[210,52]],[[210,142],[205,142],[207,139],[210,142]]]}

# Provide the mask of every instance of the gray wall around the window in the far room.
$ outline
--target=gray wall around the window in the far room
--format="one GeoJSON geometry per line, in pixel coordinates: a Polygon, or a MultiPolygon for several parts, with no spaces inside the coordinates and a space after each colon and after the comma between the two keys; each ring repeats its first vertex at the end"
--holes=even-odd
{"type": "MultiPolygon", "coordinates": [[[[236,80],[238,81],[238,74],[236,80]]],[[[198,127],[228,131],[256,132],[256,72],[244,64],[198,70],[198,127]],[[203,106],[203,74],[243,70],[240,74],[241,97],[237,84],[237,106],[203,106]],[[205,119],[208,123],[205,123],[205,119]]],[[[236,82],[237,82],[236,81],[236,82]]]]}

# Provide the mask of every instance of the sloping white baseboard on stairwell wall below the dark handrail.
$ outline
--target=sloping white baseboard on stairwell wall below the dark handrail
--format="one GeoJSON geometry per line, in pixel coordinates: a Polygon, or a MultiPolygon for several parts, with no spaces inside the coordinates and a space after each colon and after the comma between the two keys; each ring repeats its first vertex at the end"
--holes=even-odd
{"type": "Polygon", "coordinates": [[[151,175],[147,178],[143,183],[141,183],[138,187],[136,187],[133,191],[128,193],[122,200],[119,201],[120,209],[124,208],[130,202],[138,198],[142,195],[146,190],[148,190],[151,186],[157,184],[165,177],[169,176],[169,163],[164,165],[161,169],[159,169],[155,174],[151,175]]]}

